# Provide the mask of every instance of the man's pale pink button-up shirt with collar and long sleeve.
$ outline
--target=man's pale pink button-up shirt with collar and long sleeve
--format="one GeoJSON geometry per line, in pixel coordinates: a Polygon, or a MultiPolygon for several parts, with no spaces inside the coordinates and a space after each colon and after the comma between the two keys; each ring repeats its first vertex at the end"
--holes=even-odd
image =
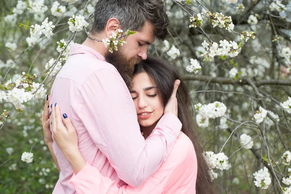
{"type": "MultiPolygon", "coordinates": [[[[71,46],[71,56],[56,76],[50,103],[70,116],[87,162],[119,185],[141,185],[167,158],[181,129],[171,113],[162,116],[145,139],[140,133],[129,90],[116,68],[95,49],[71,46]]],[[[61,168],[53,194],[75,194],[73,170],[54,143],[61,168]]]]}

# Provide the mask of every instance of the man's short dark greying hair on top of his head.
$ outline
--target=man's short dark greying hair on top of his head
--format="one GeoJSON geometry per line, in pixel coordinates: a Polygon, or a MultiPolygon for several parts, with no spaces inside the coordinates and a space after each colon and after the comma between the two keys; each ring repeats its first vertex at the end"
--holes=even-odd
{"type": "Polygon", "coordinates": [[[164,40],[168,35],[169,17],[162,0],[99,0],[91,33],[102,32],[112,17],[119,20],[124,32],[141,31],[149,21],[156,38],[164,40]]]}

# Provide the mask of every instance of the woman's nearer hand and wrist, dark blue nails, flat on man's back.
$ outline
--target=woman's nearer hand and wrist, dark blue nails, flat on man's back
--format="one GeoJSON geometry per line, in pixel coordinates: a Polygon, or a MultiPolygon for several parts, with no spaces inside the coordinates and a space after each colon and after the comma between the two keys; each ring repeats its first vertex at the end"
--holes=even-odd
{"type": "Polygon", "coordinates": [[[72,169],[77,174],[85,165],[86,161],[78,148],[78,136],[70,118],[64,113],[63,120],[59,105],[51,106],[51,128],[55,143],[61,149],[65,158],[70,162],[72,169]],[[64,122],[64,123],[63,123],[64,122]],[[65,124],[65,125],[64,125],[65,124]]]}

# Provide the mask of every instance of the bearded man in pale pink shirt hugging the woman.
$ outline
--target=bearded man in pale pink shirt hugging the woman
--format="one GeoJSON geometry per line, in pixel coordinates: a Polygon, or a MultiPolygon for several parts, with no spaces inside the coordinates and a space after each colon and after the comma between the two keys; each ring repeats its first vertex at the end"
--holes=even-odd
{"type": "MultiPolygon", "coordinates": [[[[70,116],[83,157],[119,185],[141,185],[167,158],[181,129],[173,97],[144,140],[126,85],[134,65],[146,59],[148,46],[166,37],[168,24],[162,0],[99,0],[92,38],[108,38],[118,29],[136,33],[113,53],[90,38],[73,45],[51,89],[50,103],[70,116]]],[[[52,147],[61,170],[53,193],[75,194],[69,183],[73,170],[56,144],[52,147]]]]}

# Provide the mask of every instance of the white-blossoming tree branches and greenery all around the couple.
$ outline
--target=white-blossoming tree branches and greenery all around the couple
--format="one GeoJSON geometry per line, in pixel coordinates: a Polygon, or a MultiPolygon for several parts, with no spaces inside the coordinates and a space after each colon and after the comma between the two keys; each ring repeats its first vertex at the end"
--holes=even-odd
{"type": "MultiPolygon", "coordinates": [[[[71,44],[90,36],[96,1],[0,2],[0,193],[51,193],[58,172],[43,141],[42,106],[71,44]]],[[[291,194],[291,3],[164,3],[170,37],[148,52],[187,82],[219,193],[291,194]]],[[[104,47],[118,52],[130,33],[104,37],[104,47]]]]}

